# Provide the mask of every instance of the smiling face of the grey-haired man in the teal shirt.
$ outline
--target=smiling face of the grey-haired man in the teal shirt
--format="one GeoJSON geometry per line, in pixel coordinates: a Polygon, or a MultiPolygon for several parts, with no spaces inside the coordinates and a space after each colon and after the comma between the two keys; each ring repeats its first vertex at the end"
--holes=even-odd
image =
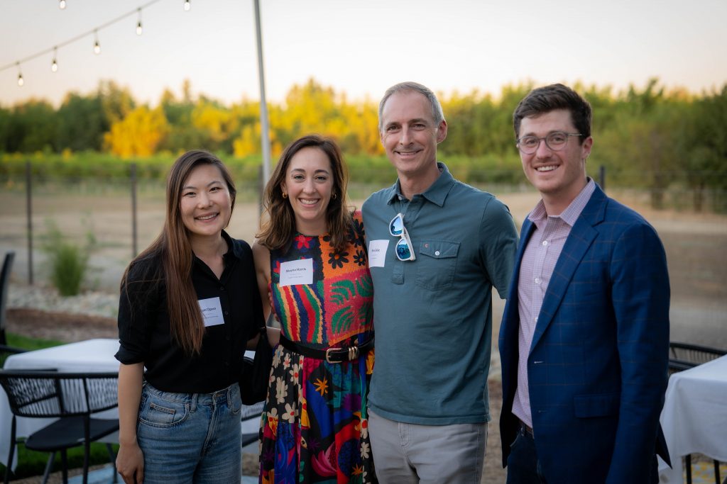
{"type": "Polygon", "coordinates": [[[437,144],[447,136],[447,123],[436,124],[427,98],[416,91],[398,91],[381,112],[381,143],[400,178],[438,175],[437,144]]]}

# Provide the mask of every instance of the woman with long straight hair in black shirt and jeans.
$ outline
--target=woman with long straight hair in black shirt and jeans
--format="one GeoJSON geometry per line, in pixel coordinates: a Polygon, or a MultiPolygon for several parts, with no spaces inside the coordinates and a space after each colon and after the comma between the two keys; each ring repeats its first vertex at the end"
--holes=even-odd
{"type": "Polygon", "coordinates": [[[240,482],[238,380],[264,319],[252,251],[224,230],[235,196],[217,157],[179,157],[164,229],[121,280],[116,464],[128,484],[240,482]]]}

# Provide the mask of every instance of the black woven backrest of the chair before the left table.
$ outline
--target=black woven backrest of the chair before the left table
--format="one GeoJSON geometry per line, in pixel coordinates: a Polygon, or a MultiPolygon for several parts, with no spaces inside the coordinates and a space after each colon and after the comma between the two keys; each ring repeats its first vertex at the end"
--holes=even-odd
{"type": "Polygon", "coordinates": [[[17,417],[71,417],[119,405],[118,373],[0,370],[0,385],[17,417]]]}

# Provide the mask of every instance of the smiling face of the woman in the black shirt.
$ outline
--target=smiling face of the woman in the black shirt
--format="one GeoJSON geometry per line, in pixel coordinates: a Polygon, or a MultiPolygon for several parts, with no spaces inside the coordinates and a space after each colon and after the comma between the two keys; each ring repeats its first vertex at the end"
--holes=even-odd
{"type": "Polygon", "coordinates": [[[182,184],[182,223],[190,239],[220,237],[232,215],[232,199],[220,168],[209,163],[196,166],[182,184]]]}

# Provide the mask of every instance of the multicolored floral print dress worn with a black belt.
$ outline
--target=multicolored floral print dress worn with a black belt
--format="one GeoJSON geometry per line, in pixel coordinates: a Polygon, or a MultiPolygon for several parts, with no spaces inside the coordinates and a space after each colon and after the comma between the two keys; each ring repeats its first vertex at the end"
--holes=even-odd
{"type": "MultiPolygon", "coordinates": [[[[296,234],[286,253],[270,253],[273,311],[284,337],[325,349],[373,336],[373,285],[361,213],[348,246],[333,250],[326,235],[296,234]],[[313,284],[280,284],[281,263],[310,258],[313,284]]],[[[260,425],[261,483],[371,483],[366,395],[374,351],[329,364],[278,345],[260,425]]]]}

